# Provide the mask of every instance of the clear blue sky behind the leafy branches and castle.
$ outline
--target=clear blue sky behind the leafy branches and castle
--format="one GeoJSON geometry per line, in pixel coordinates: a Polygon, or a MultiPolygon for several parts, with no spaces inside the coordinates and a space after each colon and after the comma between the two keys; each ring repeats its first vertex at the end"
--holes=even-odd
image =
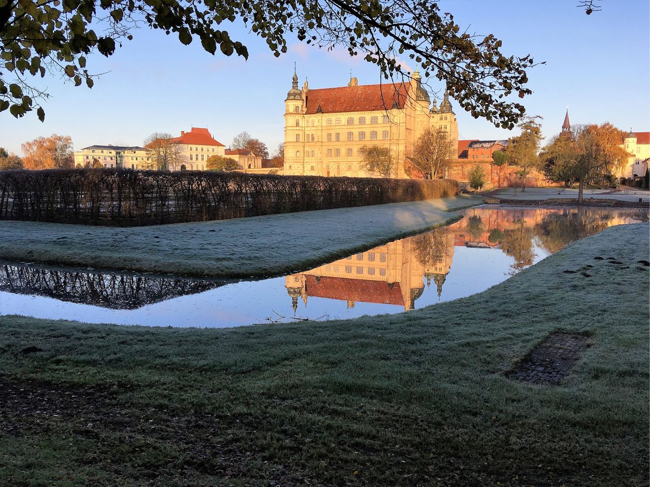
{"type": "MultiPolygon", "coordinates": [[[[528,114],[543,116],[545,136],[560,130],[565,106],[571,123],[610,121],[634,131],[650,130],[650,34],[647,0],[602,0],[603,10],[587,16],[578,0],[443,0],[471,32],[492,32],[506,55],[530,53],[545,65],[530,69],[533,95],[523,101],[528,114]]],[[[360,84],[380,81],[377,69],[343,50],[328,52],[289,40],[289,53],[274,58],[245,29],[231,38],[248,46],[248,61],[206,53],[200,42],[181,45],[174,35],[140,30],[110,58],[93,55],[88,68],[105,73],[94,88],[75,88],[57,77],[39,81],[51,97],[45,122],[36,115],[14,119],[0,114],[0,146],[21,154],[21,143],[52,133],[72,136],[75,149],[92,144],[139,145],[152,132],[208,127],[229,145],[247,131],[270,151],[283,142],[283,110],[293,64],[300,86],[344,86],[350,69],[360,84]]],[[[435,86],[435,85],[434,85],[435,86]]],[[[437,86],[440,88],[440,86],[437,86]]],[[[473,119],[454,104],[460,138],[507,138],[485,119],[473,119]]]]}

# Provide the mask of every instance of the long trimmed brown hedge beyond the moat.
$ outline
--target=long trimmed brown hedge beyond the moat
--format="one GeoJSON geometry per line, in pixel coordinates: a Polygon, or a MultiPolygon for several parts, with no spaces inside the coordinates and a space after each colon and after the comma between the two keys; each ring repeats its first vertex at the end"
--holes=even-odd
{"type": "Polygon", "coordinates": [[[419,201],[458,194],[450,179],[251,175],[213,171],[0,171],[0,219],[159,225],[419,201]]]}

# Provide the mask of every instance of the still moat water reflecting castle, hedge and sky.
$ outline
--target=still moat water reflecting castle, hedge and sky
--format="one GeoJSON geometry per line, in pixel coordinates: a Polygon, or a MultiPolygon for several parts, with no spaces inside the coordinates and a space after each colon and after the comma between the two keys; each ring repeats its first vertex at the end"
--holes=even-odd
{"type": "Polygon", "coordinates": [[[478,206],[465,218],[329,264],[258,281],[214,281],[0,263],[0,314],[89,323],[234,327],[398,313],[478,293],[647,211],[478,206]]]}

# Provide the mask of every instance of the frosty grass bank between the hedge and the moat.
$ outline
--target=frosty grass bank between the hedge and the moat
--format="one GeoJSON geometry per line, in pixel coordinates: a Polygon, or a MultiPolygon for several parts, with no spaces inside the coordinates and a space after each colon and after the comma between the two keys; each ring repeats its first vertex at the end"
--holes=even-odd
{"type": "Polygon", "coordinates": [[[0,259],[211,277],[277,275],[460,219],[481,197],[153,227],[0,221],[0,259]],[[343,230],[342,230],[343,229],[343,230]]]}

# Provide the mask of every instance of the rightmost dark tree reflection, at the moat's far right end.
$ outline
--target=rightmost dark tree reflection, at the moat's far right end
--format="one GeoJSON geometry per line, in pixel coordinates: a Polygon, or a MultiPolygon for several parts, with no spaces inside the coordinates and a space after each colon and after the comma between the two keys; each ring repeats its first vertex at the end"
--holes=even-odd
{"type": "Polygon", "coordinates": [[[555,253],[571,242],[606,229],[611,225],[612,218],[612,212],[603,210],[565,210],[562,214],[548,214],[535,230],[541,246],[549,253],[555,253]]]}

